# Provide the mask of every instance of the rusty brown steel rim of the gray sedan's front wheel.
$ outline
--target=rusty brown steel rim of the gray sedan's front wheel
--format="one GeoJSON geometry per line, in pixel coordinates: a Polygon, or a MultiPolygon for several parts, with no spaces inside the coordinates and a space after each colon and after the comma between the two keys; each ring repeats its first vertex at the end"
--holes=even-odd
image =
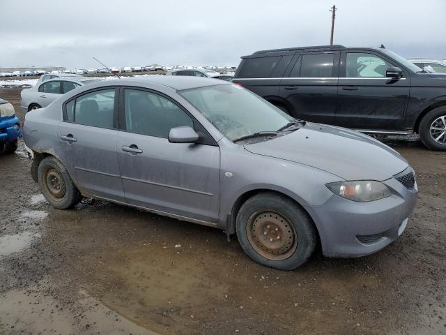
{"type": "Polygon", "coordinates": [[[246,233],[252,248],[268,260],[286,260],[298,247],[298,236],[293,225],[272,209],[251,214],[246,233]]]}

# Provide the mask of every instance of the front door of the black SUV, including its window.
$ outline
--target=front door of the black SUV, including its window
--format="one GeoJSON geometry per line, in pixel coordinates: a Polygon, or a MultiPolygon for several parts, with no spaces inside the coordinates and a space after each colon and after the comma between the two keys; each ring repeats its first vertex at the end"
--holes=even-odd
{"type": "Polygon", "coordinates": [[[394,80],[385,76],[397,66],[374,53],[343,52],[336,124],[362,130],[401,130],[409,97],[407,73],[394,80]]]}

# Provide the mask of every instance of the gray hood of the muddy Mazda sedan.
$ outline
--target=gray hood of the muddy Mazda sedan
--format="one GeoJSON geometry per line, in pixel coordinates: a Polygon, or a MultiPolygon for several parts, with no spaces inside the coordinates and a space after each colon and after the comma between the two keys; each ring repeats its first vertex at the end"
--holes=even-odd
{"type": "Polygon", "coordinates": [[[245,149],[253,154],[309,165],[345,180],[383,181],[408,166],[397,151],[368,135],[309,122],[288,135],[245,144],[245,149]]]}

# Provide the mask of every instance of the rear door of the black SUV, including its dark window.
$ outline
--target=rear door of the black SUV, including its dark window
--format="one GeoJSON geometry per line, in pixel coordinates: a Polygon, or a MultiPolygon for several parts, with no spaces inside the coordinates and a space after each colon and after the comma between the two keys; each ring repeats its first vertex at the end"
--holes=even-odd
{"type": "Polygon", "coordinates": [[[280,82],[279,96],[294,117],[333,124],[337,106],[339,52],[296,54],[280,82]]]}

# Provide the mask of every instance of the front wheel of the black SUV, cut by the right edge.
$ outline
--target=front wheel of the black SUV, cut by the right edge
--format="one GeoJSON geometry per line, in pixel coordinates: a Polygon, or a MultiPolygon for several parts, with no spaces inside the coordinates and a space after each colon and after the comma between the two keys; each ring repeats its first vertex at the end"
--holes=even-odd
{"type": "Polygon", "coordinates": [[[419,132],[426,147],[446,151],[446,106],[428,112],[420,122],[419,132]]]}

